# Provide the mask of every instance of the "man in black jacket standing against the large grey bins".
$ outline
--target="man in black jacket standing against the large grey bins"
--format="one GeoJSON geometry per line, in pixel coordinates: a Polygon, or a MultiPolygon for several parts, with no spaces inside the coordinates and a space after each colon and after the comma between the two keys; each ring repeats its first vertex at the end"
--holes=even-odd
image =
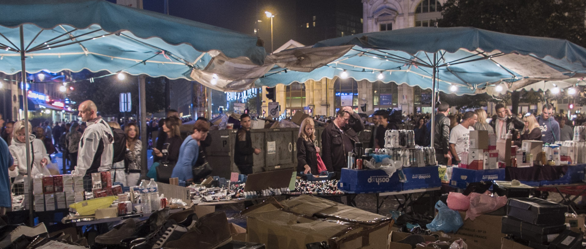
{"type": "Polygon", "coordinates": [[[260,154],[260,148],[253,147],[250,138],[250,116],[244,113],[240,116],[240,129],[236,133],[236,145],[234,146],[234,164],[238,166],[240,174],[253,174],[254,154],[260,154]]]}

